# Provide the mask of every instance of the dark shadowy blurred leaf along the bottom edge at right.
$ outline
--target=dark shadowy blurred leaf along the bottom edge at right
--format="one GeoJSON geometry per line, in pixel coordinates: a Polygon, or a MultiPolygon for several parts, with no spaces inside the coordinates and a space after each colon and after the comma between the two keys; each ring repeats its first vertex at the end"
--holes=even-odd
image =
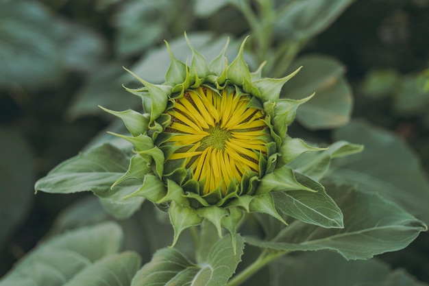
{"type": "Polygon", "coordinates": [[[285,257],[270,265],[270,286],[424,286],[404,270],[391,270],[378,259],[345,261],[338,254],[321,251],[285,257]]]}

